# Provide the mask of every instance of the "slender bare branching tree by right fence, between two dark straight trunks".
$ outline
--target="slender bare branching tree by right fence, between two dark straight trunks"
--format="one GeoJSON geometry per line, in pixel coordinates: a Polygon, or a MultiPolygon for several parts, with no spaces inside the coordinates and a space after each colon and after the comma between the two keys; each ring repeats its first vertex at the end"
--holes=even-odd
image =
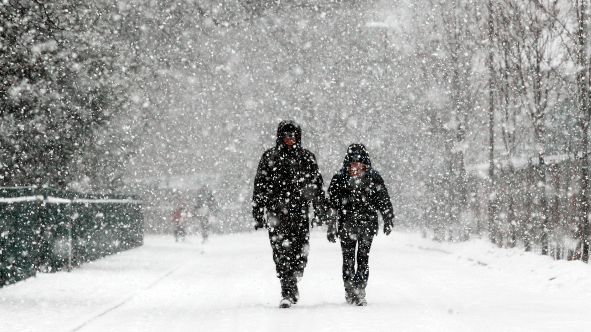
{"type": "Polygon", "coordinates": [[[542,253],[548,253],[549,220],[546,194],[546,116],[551,105],[560,99],[563,80],[560,71],[566,62],[563,48],[560,45],[563,29],[558,21],[559,7],[556,1],[505,1],[499,15],[505,27],[502,52],[499,58],[504,68],[501,82],[505,99],[500,102],[504,106],[505,146],[509,152],[515,151],[515,133],[510,129],[511,118],[521,106],[527,110],[531,118],[537,154],[537,186],[534,191],[537,201],[537,213],[531,220],[535,236],[542,244],[542,253]],[[515,98],[514,98],[514,97],[515,98]]]}

